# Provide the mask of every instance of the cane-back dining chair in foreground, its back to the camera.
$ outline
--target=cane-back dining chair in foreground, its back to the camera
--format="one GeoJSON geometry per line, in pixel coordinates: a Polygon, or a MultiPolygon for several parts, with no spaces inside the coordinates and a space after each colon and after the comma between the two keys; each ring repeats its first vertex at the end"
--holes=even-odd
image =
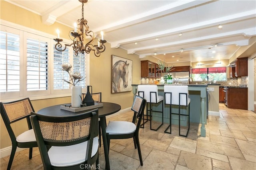
{"type": "Polygon", "coordinates": [[[99,168],[98,109],[65,117],[32,112],[31,122],[45,170],[99,168]]]}

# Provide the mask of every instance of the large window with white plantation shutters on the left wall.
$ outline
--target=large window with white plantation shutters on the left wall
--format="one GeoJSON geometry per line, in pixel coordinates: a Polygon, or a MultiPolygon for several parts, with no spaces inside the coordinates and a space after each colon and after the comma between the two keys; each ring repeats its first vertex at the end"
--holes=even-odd
{"type": "MultiPolygon", "coordinates": [[[[0,27],[0,95],[1,99],[32,97],[52,98],[54,95],[70,96],[70,80],[61,70],[61,64],[72,64],[72,71],[86,77],[87,56],[75,56],[72,47],[60,52],[55,41],[45,33],[16,25],[0,27]],[[22,29],[26,30],[23,31],[22,29]]],[[[65,40],[68,43],[68,40],[65,40]]],[[[84,88],[86,80],[80,81],[84,88]]]]}

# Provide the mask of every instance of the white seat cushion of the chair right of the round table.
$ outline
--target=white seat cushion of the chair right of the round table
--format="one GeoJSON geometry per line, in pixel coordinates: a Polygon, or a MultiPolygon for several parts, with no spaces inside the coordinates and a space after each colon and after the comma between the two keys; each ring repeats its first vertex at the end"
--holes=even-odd
{"type": "Polygon", "coordinates": [[[129,134],[136,130],[136,125],[129,121],[109,121],[106,133],[109,134],[129,134]]]}

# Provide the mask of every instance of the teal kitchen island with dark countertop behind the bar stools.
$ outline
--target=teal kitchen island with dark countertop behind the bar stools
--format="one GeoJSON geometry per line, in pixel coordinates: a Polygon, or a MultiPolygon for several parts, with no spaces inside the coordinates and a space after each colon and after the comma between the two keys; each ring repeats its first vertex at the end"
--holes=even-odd
{"type": "MultiPolygon", "coordinates": [[[[136,95],[137,87],[140,84],[132,84],[132,93],[136,95]]],[[[143,84],[147,85],[147,84],[143,84]]],[[[175,86],[175,85],[187,85],[189,91],[189,98],[190,100],[190,122],[194,123],[201,123],[201,137],[206,137],[206,117],[207,117],[207,103],[206,103],[206,88],[207,84],[148,84],[148,85],[157,85],[158,86],[158,95],[164,96],[164,85],[168,86],[175,86]]],[[[158,106],[155,106],[158,109],[158,106]]],[[[177,110],[175,106],[172,108],[177,110]],[[173,108],[174,107],[174,108],[173,108]]],[[[168,105],[164,105],[164,122],[168,123],[170,119],[170,113],[168,112],[169,108],[168,105]]],[[[153,113],[152,117],[156,121],[160,121],[160,115],[157,113],[153,113]]],[[[172,121],[176,124],[178,123],[175,117],[172,121]]],[[[185,120],[184,120],[185,121],[185,120]]]]}

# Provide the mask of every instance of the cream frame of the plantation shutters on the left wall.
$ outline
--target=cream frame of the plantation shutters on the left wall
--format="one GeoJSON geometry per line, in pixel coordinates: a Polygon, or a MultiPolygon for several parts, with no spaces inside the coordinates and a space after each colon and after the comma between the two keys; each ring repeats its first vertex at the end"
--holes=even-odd
{"type": "MultiPolygon", "coordinates": [[[[47,99],[47,98],[59,98],[59,97],[67,97],[71,96],[71,86],[69,86],[68,89],[55,89],[53,87],[53,49],[51,47],[54,47],[56,42],[53,40],[56,38],[56,35],[51,35],[42,31],[38,31],[35,29],[31,29],[28,27],[24,27],[22,25],[18,25],[16,23],[11,23],[9,21],[5,20],[0,20],[0,30],[9,32],[9,33],[14,33],[14,34],[19,34],[20,35],[20,91],[17,92],[0,92],[0,100],[1,102],[8,102],[10,100],[19,100],[22,98],[29,97],[30,100],[40,100],[40,99],[47,99]],[[34,91],[27,91],[26,90],[26,36],[31,36],[30,38],[35,39],[35,37],[44,37],[45,39],[48,39],[48,66],[49,66],[49,76],[48,76],[48,85],[49,88],[48,90],[34,90],[34,91]]],[[[72,43],[71,40],[68,39],[63,39],[64,42],[66,43],[72,43]]],[[[73,52],[72,47],[70,47],[70,53],[73,52]]],[[[90,84],[90,54],[86,54],[85,57],[85,63],[86,63],[86,86],[87,84],[90,84]]],[[[69,63],[73,63],[73,55],[70,55],[70,61],[69,63]]],[[[83,92],[86,92],[86,88],[82,88],[83,92]]]]}

